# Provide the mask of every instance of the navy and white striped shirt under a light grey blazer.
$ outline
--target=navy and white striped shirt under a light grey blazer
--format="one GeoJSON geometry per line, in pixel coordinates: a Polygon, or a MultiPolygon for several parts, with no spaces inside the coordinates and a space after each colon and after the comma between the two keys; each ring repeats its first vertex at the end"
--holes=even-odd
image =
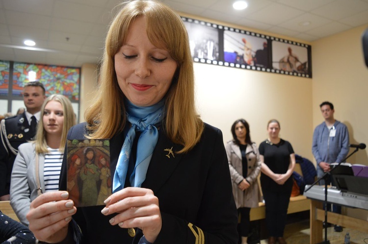
{"type": "Polygon", "coordinates": [[[59,190],[59,176],[63,153],[58,149],[47,147],[49,152],[45,153],[44,180],[45,192],[59,190]]]}

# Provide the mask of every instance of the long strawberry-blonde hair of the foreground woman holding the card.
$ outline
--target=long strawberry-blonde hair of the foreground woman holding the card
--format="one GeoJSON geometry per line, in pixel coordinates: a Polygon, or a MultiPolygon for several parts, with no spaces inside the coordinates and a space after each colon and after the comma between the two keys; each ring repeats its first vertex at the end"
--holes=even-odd
{"type": "Polygon", "coordinates": [[[204,124],[194,103],[193,61],[185,25],[177,13],[155,0],[134,0],[118,7],[120,10],[110,24],[105,40],[95,102],[85,112],[87,128],[91,131],[87,138],[111,138],[125,126],[125,96],[117,82],[114,56],[124,45],[133,21],[144,17],[150,42],[168,50],[178,64],[165,96],[163,126],[172,142],[184,146],[179,153],[187,152],[200,140],[204,124]]]}

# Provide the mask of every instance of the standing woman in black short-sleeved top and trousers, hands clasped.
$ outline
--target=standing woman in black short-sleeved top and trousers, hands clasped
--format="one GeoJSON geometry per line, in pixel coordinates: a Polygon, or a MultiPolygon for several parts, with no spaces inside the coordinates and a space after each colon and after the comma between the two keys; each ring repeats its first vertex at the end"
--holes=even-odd
{"type": "Polygon", "coordinates": [[[295,154],[291,144],[279,137],[280,123],[270,120],[267,124],[268,139],[261,143],[261,187],[266,206],[268,244],[286,244],[286,225],[292,188],[291,174],[295,166],[295,154]]]}

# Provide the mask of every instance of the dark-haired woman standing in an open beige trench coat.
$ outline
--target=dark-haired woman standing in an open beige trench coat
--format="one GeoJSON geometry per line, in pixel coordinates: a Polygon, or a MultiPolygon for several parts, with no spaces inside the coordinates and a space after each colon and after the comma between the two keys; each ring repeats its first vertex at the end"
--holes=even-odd
{"type": "Polygon", "coordinates": [[[250,140],[249,124],[239,119],[231,126],[233,140],[226,146],[229,160],[233,194],[240,214],[239,237],[241,243],[246,244],[249,234],[251,208],[258,207],[261,195],[257,176],[261,171],[260,154],[257,145],[250,140]]]}

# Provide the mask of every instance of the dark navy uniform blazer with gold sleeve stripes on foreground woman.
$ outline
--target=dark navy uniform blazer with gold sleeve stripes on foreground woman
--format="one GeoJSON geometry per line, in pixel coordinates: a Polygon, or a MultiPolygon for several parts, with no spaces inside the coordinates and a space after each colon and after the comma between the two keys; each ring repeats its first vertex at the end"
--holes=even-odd
{"type": "MultiPolygon", "coordinates": [[[[85,133],[85,123],[78,124],[70,129],[68,139],[84,139],[85,133]]],[[[123,139],[122,134],[110,139],[111,175],[123,139]]],[[[159,200],[162,229],[155,244],[236,244],[237,209],[221,131],[205,124],[200,142],[186,154],[176,153],[181,148],[159,130],[158,143],[142,184],[142,188],[152,189],[159,200]],[[172,148],[174,155],[165,150],[168,148],[172,148]]],[[[60,190],[66,190],[65,155],[60,190]]],[[[101,214],[103,207],[78,208],[73,219],[81,229],[81,243],[138,243],[142,231],[137,229],[133,240],[126,229],[109,224],[113,216],[101,214]]]]}

